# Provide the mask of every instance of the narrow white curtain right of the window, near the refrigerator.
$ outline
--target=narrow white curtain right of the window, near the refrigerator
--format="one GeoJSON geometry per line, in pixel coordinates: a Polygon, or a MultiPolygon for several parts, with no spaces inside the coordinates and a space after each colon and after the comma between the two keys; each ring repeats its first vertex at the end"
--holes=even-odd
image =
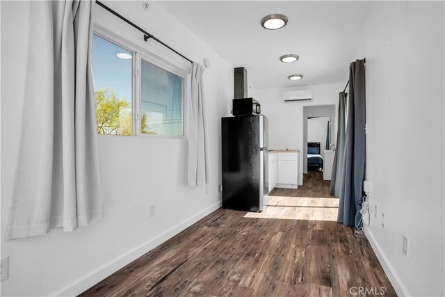
{"type": "Polygon", "coordinates": [[[207,186],[210,180],[202,72],[202,66],[193,63],[188,109],[188,186],[207,186]]]}

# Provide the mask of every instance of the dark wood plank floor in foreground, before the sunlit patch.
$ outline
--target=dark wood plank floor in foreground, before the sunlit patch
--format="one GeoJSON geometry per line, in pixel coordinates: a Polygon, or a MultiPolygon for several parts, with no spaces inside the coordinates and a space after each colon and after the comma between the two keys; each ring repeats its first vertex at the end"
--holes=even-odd
{"type": "Polygon", "coordinates": [[[350,227],[246,214],[218,209],[81,296],[350,296],[351,287],[396,296],[350,227]]]}

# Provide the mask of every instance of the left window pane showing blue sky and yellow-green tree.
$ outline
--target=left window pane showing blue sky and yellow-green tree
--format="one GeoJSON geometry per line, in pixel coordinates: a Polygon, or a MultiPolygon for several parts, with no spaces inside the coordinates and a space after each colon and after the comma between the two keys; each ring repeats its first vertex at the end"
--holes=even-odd
{"type": "Polygon", "coordinates": [[[133,53],[98,35],[92,38],[98,134],[133,135],[133,53]]]}

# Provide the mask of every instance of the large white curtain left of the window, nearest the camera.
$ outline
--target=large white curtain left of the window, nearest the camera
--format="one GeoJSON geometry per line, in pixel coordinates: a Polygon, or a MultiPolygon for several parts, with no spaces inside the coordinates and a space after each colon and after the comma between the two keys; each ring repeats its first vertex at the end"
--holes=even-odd
{"type": "Polygon", "coordinates": [[[91,74],[95,1],[32,1],[19,161],[6,239],[102,218],[91,74]]]}

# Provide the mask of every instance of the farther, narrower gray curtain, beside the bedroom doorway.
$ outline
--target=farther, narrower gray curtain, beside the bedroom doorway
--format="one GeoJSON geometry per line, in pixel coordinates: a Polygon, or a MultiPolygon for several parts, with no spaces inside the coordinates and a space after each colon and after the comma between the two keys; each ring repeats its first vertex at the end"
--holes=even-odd
{"type": "Polygon", "coordinates": [[[346,139],[346,94],[339,93],[339,128],[337,129],[337,148],[332,164],[330,193],[335,197],[340,195],[341,177],[343,177],[343,159],[346,139]]]}

